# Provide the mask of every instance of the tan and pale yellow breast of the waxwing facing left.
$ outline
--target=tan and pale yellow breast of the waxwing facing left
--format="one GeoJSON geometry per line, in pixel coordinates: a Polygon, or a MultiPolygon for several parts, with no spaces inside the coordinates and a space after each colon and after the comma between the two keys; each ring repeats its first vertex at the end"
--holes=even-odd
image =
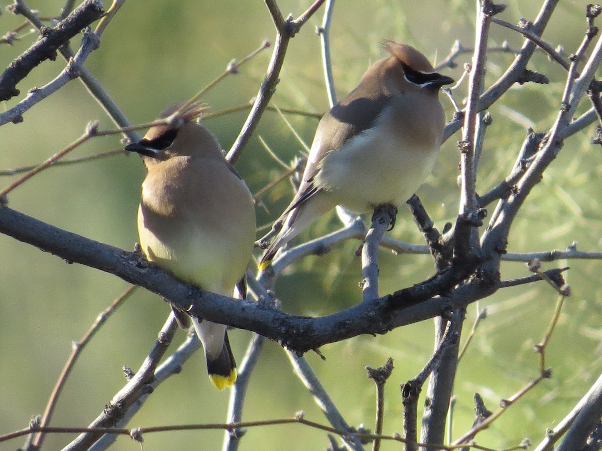
{"type": "Polygon", "coordinates": [[[142,187],[143,253],[181,280],[231,294],[255,241],[249,189],[216,159],[182,157],[161,164],[166,167],[149,171],[142,187]]]}

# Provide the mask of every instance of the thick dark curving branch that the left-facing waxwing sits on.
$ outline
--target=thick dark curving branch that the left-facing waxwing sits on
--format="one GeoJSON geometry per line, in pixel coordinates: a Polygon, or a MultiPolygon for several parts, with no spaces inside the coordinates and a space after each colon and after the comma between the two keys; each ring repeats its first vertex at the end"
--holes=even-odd
{"type": "Polygon", "coordinates": [[[8,207],[0,207],[0,232],[70,262],[115,274],[170,299],[182,311],[190,311],[194,316],[254,331],[300,352],[361,334],[386,333],[404,324],[433,318],[448,308],[464,307],[494,292],[497,286],[497,282],[480,277],[470,286],[453,288],[474,271],[472,265],[476,264],[460,253],[450,269],[432,280],[328,316],[308,318],[200,290],[158,268],[148,267],[137,254],[66,232],[8,207]],[[445,298],[433,297],[439,292],[445,292],[445,298]]]}

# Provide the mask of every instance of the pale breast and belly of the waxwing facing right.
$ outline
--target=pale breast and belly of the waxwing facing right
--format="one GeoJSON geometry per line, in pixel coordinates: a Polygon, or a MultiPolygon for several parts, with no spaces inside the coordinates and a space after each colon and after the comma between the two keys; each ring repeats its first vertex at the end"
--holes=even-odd
{"type": "Polygon", "coordinates": [[[356,212],[383,203],[399,206],[432,171],[445,123],[441,104],[424,94],[399,97],[393,97],[373,127],[320,162],[315,183],[338,204],[356,212]]]}

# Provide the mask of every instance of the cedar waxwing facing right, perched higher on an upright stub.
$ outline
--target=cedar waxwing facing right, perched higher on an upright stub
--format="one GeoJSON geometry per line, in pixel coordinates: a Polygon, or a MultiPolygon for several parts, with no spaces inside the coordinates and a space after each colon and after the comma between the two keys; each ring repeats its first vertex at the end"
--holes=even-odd
{"type": "Polygon", "coordinates": [[[383,43],[358,87],[321,118],[299,191],[275,229],[259,269],[276,251],[337,205],[358,213],[405,203],[435,164],[445,114],[439,88],[453,79],[406,44],[383,43]]]}

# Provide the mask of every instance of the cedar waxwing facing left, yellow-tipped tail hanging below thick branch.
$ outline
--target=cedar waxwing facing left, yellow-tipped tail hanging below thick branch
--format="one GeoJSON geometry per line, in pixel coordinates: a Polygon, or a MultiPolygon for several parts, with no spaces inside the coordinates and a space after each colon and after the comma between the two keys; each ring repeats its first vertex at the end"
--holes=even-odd
{"type": "MultiPolygon", "coordinates": [[[[142,140],[125,147],[140,154],[147,170],[138,235],[149,262],[182,281],[231,296],[244,281],[253,251],[255,207],[216,138],[194,121],[202,111],[191,105],[182,111],[180,127],[153,126],[142,140]]],[[[181,325],[188,323],[185,314],[174,313],[181,325]]],[[[194,317],[192,323],[205,349],[209,378],[220,390],[230,387],[236,363],[226,326],[194,317]]]]}

